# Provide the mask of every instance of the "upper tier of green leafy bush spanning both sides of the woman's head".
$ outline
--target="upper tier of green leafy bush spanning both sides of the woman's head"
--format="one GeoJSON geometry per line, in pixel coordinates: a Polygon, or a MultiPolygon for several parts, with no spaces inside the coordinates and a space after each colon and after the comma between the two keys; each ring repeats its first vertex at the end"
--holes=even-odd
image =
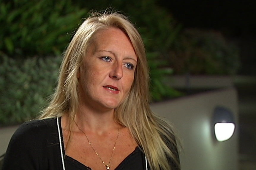
{"type": "Polygon", "coordinates": [[[0,52],[15,58],[59,55],[89,10],[110,6],[129,16],[150,52],[165,53],[180,30],[155,0],[1,1],[0,52]]]}

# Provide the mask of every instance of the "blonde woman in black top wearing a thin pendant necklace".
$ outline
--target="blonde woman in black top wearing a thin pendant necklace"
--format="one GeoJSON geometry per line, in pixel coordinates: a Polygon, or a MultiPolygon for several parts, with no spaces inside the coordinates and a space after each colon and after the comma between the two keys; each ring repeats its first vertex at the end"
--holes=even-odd
{"type": "Polygon", "coordinates": [[[67,47],[48,108],[15,132],[3,169],[180,169],[148,83],[135,27],[118,13],[92,14],[67,47]]]}

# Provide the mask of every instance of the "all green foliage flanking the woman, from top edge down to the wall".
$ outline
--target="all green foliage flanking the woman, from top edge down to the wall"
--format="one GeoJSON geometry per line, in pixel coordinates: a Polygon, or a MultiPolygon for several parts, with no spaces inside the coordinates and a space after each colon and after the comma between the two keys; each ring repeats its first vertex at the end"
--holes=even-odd
{"type": "Polygon", "coordinates": [[[129,16],[143,37],[153,100],[179,95],[162,83],[172,71],[159,56],[173,46],[180,26],[155,0],[0,0],[0,124],[36,116],[53,93],[61,60],[46,56],[60,56],[89,10],[107,7],[129,16]]]}

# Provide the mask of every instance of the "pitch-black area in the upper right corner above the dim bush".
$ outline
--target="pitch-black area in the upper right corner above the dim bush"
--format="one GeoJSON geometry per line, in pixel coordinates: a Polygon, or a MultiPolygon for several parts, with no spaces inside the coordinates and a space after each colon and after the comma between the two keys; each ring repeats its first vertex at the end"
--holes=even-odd
{"type": "Polygon", "coordinates": [[[256,2],[231,0],[159,0],[184,28],[221,31],[240,48],[238,74],[256,75],[256,2]]]}

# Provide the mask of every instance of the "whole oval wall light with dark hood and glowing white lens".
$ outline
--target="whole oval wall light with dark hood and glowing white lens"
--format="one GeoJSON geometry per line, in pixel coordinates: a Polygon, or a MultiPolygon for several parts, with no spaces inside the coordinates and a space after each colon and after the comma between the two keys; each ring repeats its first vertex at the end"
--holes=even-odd
{"type": "Polygon", "coordinates": [[[214,135],[218,141],[230,139],[235,132],[235,123],[233,113],[222,106],[214,109],[213,115],[214,135]]]}

